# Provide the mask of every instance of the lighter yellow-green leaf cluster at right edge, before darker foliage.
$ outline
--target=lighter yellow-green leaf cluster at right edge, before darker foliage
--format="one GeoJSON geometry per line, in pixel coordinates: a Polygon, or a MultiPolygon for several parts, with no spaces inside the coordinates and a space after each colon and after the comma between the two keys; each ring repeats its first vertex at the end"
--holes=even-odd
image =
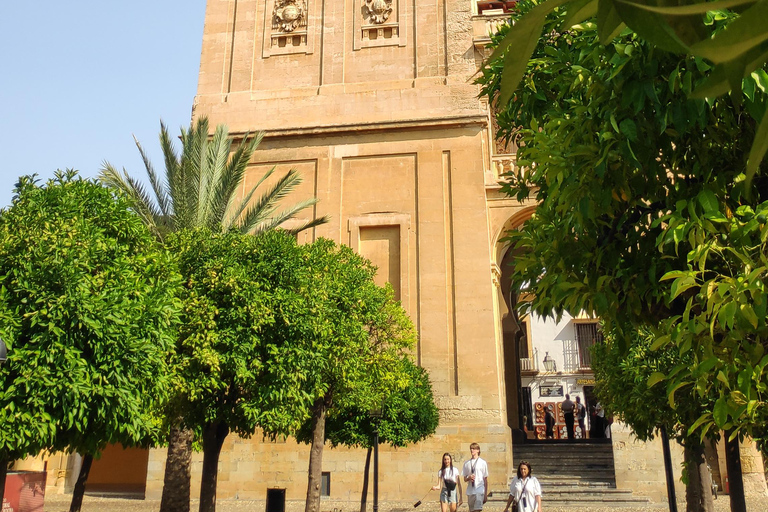
{"type": "Polygon", "coordinates": [[[768,202],[735,211],[702,194],[706,214],[690,219],[686,205],[667,215],[662,241],[685,237],[694,248],[685,270],[667,273],[675,298],[687,298],[682,314],[662,324],[656,347],[677,346],[688,365],[665,376],[668,391],[714,393],[714,407],[694,427],[701,434],[729,430],[763,440],[768,420],[768,202]]]}

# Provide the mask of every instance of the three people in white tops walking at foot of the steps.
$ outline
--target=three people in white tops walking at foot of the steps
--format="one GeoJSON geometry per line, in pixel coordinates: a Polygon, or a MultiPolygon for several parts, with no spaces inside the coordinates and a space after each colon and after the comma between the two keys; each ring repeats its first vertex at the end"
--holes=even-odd
{"type": "MultiPolygon", "coordinates": [[[[480,512],[488,501],[488,464],[480,458],[480,445],[469,445],[472,454],[464,463],[461,472],[453,466],[450,453],[443,454],[440,471],[437,472],[437,485],[432,490],[440,491],[440,509],[442,512],[456,512],[463,503],[461,482],[467,486],[467,503],[470,512],[480,512]]],[[[531,475],[531,465],[521,462],[517,467],[517,476],[509,484],[509,499],[504,512],[541,512],[541,484],[531,475]]]]}

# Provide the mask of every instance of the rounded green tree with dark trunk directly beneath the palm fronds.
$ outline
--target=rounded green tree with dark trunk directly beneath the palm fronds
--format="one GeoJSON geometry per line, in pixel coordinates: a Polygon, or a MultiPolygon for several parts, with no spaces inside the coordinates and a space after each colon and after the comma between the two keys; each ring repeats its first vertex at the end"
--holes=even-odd
{"type": "Polygon", "coordinates": [[[303,303],[297,275],[307,273],[294,237],[182,230],[167,239],[184,279],[182,328],[173,367],[179,410],[202,439],[200,511],[216,508],[221,447],[234,432],[257,427],[289,434],[306,418],[301,381],[282,365],[302,363],[290,324],[277,311],[303,303]]]}

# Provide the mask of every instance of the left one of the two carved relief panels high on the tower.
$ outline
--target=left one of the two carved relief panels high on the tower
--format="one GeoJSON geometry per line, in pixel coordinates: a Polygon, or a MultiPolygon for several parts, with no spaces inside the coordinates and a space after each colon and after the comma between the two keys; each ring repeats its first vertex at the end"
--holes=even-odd
{"type": "Polygon", "coordinates": [[[319,0],[266,0],[264,58],[288,53],[312,53],[314,12],[319,0]]]}

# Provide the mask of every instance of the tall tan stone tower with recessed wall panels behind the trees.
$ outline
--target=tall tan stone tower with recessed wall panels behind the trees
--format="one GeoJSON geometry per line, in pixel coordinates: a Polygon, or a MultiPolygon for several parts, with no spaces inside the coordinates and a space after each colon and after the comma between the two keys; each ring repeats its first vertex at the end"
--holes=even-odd
{"type": "MultiPolygon", "coordinates": [[[[304,182],[288,201],[315,196],[308,215],[331,219],[305,240],[331,238],[371,259],[418,329],[440,427],[419,445],[382,447],[383,500],[417,500],[442,454],[459,465],[475,441],[491,489],[511,476],[488,112],[472,84],[476,10],[474,0],[209,0],[206,10],[194,115],[236,135],[263,130],[245,187],[274,166],[297,169],[304,182]]],[[[220,498],[263,499],[276,487],[303,500],[306,447],[231,437],[220,498]]],[[[364,462],[364,451],[326,449],[331,500],[359,500],[364,462]]],[[[153,451],[148,497],[161,471],[153,451]]]]}

